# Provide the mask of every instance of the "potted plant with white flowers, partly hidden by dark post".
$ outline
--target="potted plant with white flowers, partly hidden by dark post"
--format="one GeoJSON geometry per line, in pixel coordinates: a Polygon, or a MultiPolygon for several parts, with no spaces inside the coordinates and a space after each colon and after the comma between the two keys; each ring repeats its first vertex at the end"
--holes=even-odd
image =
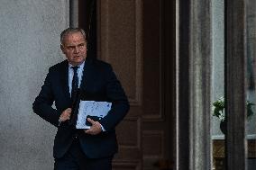
{"type": "MultiPolygon", "coordinates": [[[[218,100],[216,100],[214,103],[214,116],[216,116],[220,121],[220,129],[225,134],[225,114],[224,114],[224,97],[220,97],[218,100]]],[[[251,103],[250,101],[246,101],[246,108],[247,108],[247,118],[250,118],[251,115],[254,114],[252,106],[255,105],[254,103],[251,103]]]]}

